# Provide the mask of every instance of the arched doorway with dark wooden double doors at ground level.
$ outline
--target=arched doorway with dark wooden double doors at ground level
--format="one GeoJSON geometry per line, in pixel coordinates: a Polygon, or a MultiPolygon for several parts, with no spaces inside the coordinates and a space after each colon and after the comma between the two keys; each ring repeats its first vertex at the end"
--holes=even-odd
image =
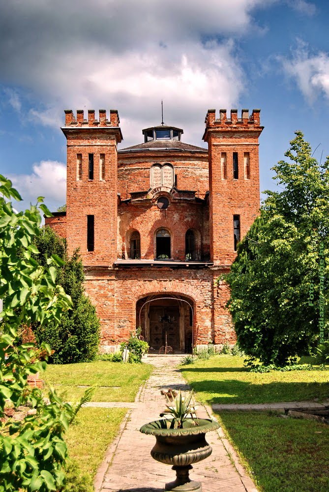
{"type": "Polygon", "coordinates": [[[150,353],[166,346],[174,353],[192,353],[193,309],[190,299],[174,294],[150,295],[137,302],[136,326],[141,326],[150,353]]]}

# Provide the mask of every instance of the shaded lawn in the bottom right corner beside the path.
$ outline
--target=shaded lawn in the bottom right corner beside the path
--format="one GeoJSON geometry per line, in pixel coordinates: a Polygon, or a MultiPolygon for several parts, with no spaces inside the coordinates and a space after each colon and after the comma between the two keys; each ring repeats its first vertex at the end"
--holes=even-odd
{"type": "Polygon", "coordinates": [[[328,492],[329,427],[262,412],[220,412],[262,492],[328,492]]]}

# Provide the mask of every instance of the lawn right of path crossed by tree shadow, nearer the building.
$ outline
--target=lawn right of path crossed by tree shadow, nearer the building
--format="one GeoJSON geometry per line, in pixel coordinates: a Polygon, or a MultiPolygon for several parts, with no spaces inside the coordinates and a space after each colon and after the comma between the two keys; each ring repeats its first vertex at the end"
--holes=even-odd
{"type": "Polygon", "coordinates": [[[203,403],[268,403],[329,398],[329,367],[324,371],[255,373],[243,367],[242,357],[220,355],[180,369],[203,403]]]}

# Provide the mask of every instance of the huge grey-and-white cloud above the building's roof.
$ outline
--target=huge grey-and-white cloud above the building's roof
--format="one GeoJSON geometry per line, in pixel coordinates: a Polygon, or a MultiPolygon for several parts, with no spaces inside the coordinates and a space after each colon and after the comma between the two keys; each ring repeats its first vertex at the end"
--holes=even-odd
{"type": "Polygon", "coordinates": [[[129,145],[140,140],[143,122],[160,121],[163,99],[167,123],[188,126],[185,140],[200,144],[208,107],[239,104],[247,82],[230,37],[251,25],[261,31],[252,13],[264,2],[209,0],[204,8],[200,0],[16,0],[13,7],[0,0],[0,6],[2,80],[37,97],[40,104],[29,111],[34,122],[58,127],[66,108],[118,109],[129,145]]]}

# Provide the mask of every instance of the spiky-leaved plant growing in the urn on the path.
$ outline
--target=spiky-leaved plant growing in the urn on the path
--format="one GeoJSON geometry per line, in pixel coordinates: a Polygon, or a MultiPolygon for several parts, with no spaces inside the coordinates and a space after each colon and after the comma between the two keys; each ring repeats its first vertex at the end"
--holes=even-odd
{"type": "MultiPolygon", "coordinates": [[[[172,418],[171,429],[181,429],[183,427],[183,422],[188,418],[194,420],[193,413],[195,412],[195,406],[192,402],[193,390],[189,392],[181,393],[179,390],[178,395],[170,400],[167,395],[165,395],[167,404],[164,412],[160,413],[160,417],[172,418]],[[171,417],[167,417],[171,416],[171,417]]],[[[194,421],[197,424],[196,421],[194,421]]]]}

